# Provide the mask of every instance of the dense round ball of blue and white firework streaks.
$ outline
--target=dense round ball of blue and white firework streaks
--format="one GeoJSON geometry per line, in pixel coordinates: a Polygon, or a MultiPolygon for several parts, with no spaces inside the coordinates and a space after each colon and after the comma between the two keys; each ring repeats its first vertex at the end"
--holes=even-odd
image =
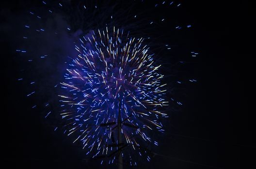
{"type": "Polygon", "coordinates": [[[108,145],[117,143],[114,125],[120,100],[123,143],[139,154],[141,140],[157,145],[146,129],[164,131],[160,119],[167,114],[159,107],[168,104],[163,99],[166,84],[160,83],[160,65],[155,65],[144,39],[113,27],[83,36],[75,48],[79,55],[69,64],[59,95],[66,133],[76,133],[75,141],[82,142],[87,154],[110,155],[108,145]]]}

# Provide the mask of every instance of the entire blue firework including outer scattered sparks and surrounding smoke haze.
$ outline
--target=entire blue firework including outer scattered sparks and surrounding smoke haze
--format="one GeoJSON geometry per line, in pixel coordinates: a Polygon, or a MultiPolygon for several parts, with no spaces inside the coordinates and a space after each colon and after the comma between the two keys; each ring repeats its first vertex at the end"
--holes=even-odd
{"type": "MultiPolygon", "coordinates": [[[[174,67],[184,61],[176,57],[170,62],[169,52],[176,46],[170,37],[191,25],[177,25],[172,14],[165,17],[164,11],[180,8],[178,1],[73,2],[42,1],[24,20],[16,21],[22,25],[24,41],[16,48],[24,56],[17,61],[22,70],[17,79],[24,83],[30,106],[47,118],[44,123],[56,132],[64,126],[86,157],[102,157],[101,163],[109,164],[120,154],[129,165],[137,165],[140,156],[149,161],[151,145],[160,142],[155,133],[164,132],[163,119],[182,105],[174,96],[175,87],[188,81],[187,75],[173,76],[174,67]],[[133,3],[142,10],[133,9],[133,3]],[[168,90],[163,71],[173,77],[168,90]]],[[[184,51],[184,56],[198,55],[184,51]]]]}

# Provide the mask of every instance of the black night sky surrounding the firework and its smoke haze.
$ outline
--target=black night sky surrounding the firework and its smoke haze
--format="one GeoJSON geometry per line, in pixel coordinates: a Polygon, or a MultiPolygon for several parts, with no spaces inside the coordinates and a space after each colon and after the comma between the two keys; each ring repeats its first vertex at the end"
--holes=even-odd
{"type": "MultiPolygon", "coordinates": [[[[99,161],[86,162],[81,147],[72,144],[72,139],[62,132],[54,132],[53,125],[42,118],[43,109],[31,108],[33,103],[30,102],[35,100],[27,99],[28,87],[17,82],[22,62],[19,62],[18,57],[21,56],[15,51],[20,43],[17,36],[21,34],[16,27],[21,25],[21,21],[17,22],[14,18],[23,14],[26,8],[36,7],[37,3],[33,0],[25,3],[8,0],[0,5],[2,166],[32,169],[114,169],[114,165],[100,166],[99,161]]],[[[100,4],[100,1],[97,3],[100,4]]],[[[127,5],[124,1],[113,1],[115,3],[127,5]]],[[[255,120],[252,115],[255,111],[250,109],[251,99],[249,100],[249,96],[253,96],[251,86],[255,77],[252,73],[255,22],[252,16],[253,5],[247,1],[197,0],[184,0],[181,4],[175,17],[174,13],[161,13],[159,9],[159,13],[164,13],[166,18],[175,19],[164,23],[161,29],[156,27],[151,34],[153,37],[164,37],[158,38],[157,42],[176,44],[172,53],[174,57],[169,57],[167,52],[158,51],[157,48],[154,52],[162,56],[162,61],[159,62],[179,59],[187,61],[188,64],[176,76],[180,79],[193,77],[197,83],[184,84],[175,91],[175,95],[182,99],[183,106],[169,115],[165,122],[166,132],[158,136],[161,139],[160,145],[154,151],[159,155],[152,158],[151,162],[134,168],[255,168],[255,120]],[[172,32],[170,27],[179,20],[182,20],[182,24],[191,24],[192,28],[189,31],[172,32]],[[196,59],[185,56],[186,51],[192,50],[199,53],[196,59]]],[[[151,3],[134,5],[131,7],[132,12],[144,11],[149,5],[151,3]]],[[[156,13],[150,17],[156,19],[159,15],[156,13]]],[[[93,24],[91,26],[96,27],[93,24]]],[[[72,27],[75,28],[76,24],[72,27]]],[[[139,27],[140,25],[133,28],[139,27]]],[[[142,26],[141,32],[144,32],[143,28],[142,26]]],[[[147,31],[144,32],[146,33],[147,31]]],[[[163,67],[166,67],[162,70],[166,76],[173,74],[169,72],[172,69],[168,69],[168,64],[163,67]]],[[[39,76],[38,79],[40,78],[39,76]]],[[[168,77],[164,81],[172,83],[168,77]]]]}

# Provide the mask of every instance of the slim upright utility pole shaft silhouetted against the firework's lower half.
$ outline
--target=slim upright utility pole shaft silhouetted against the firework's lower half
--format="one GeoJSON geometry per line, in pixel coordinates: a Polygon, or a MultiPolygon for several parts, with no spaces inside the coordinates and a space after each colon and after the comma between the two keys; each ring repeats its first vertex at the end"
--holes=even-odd
{"type": "MultiPolygon", "coordinates": [[[[118,112],[118,121],[117,121],[117,130],[118,130],[118,150],[121,148],[121,141],[122,141],[122,121],[121,121],[121,99],[119,99],[119,112],[118,112]]],[[[119,151],[118,153],[118,169],[123,169],[123,156],[122,151],[119,151]]]]}

